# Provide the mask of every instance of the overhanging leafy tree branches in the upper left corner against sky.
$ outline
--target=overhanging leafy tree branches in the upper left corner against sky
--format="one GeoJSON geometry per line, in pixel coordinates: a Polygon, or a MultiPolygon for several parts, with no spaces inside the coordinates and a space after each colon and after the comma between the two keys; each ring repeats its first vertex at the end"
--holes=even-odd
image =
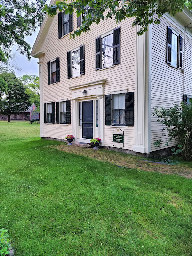
{"type": "Polygon", "coordinates": [[[40,26],[45,0],[0,0],[0,62],[10,57],[11,47],[30,59],[30,45],[25,36],[40,26]]]}

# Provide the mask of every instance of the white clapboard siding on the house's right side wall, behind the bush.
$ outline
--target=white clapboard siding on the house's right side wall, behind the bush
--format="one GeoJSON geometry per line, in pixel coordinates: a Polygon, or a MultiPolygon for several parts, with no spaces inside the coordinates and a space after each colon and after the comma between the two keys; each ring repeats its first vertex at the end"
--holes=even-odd
{"type": "MultiPolygon", "coordinates": [[[[167,26],[172,27],[184,39],[184,29],[170,22],[167,16],[160,18],[159,25],[152,25],[152,56],[151,56],[151,114],[154,107],[170,107],[174,103],[179,104],[184,94],[192,95],[192,39],[185,37],[185,65],[184,74],[181,69],[170,67],[166,63],[167,58],[167,26]],[[183,83],[184,81],[184,83],[183,83]]],[[[184,47],[184,44],[183,44],[184,47]]],[[[184,49],[184,48],[183,48],[184,49]]],[[[162,139],[160,149],[166,148],[164,143],[168,137],[166,131],[162,131],[163,125],[157,122],[157,118],[151,117],[151,151],[157,150],[153,143],[162,139]]],[[[174,146],[171,142],[169,146],[174,146]]]]}

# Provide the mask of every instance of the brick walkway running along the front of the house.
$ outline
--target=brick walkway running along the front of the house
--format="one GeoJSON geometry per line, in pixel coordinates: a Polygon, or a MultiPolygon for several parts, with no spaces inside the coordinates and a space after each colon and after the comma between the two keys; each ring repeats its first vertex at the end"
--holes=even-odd
{"type": "Polygon", "coordinates": [[[92,150],[91,148],[82,148],[77,146],[69,146],[66,144],[49,146],[64,152],[73,153],[77,155],[83,155],[90,158],[95,158],[99,161],[111,162],[112,164],[123,166],[127,168],[144,170],[144,171],[156,171],[165,174],[177,174],[184,176],[188,179],[192,179],[192,168],[186,167],[182,164],[158,164],[153,162],[144,162],[141,158],[123,154],[106,149],[92,150]]]}

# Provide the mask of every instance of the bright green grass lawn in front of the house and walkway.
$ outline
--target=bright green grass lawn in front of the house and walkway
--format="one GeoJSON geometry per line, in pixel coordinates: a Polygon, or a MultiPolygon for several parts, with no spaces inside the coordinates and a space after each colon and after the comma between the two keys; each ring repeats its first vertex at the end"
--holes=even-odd
{"type": "Polygon", "coordinates": [[[0,224],[15,256],[191,256],[192,180],[46,147],[0,122],[0,224]]]}

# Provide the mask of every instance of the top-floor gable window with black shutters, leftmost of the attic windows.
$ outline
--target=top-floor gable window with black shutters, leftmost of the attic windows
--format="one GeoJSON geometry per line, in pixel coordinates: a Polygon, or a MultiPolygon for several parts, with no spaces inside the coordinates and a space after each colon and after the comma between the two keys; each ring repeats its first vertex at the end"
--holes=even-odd
{"type": "Polygon", "coordinates": [[[69,34],[70,32],[73,31],[73,13],[65,13],[64,12],[59,12],[58,13],[58,33],[59,33],[59,39],[66,35],[69,34]]]}

